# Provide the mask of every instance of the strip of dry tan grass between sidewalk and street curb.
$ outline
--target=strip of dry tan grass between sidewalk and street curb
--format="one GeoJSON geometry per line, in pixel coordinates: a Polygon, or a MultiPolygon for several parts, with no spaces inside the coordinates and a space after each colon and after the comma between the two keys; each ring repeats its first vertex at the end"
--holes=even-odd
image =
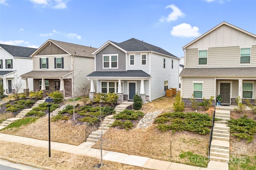
{"type": "MultiPolygon", "coordinates": [[[[51,150],[51,157],[48,157],[47,148],[6,141],[0,141],[0,145],[1,156],[56,170],[92,170],[98,169],[94,168],[94,166],[100,164],[100,160],[97,158],[56,150],[51,150]]],[[[101,170],[148,170],[147,168],[111,161],[103,161],[103,164],[100,168],[101,170]]]]}

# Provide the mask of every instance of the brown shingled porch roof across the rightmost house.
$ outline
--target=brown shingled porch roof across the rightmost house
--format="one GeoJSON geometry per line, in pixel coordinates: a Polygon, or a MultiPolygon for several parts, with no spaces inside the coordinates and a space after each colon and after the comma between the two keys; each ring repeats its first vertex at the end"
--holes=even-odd
{"type": "Polygon", "coordinates": [[[251,68],[193,68],[182,69],[180,76],[205,77],[256,77],[256,67],[251,68]]]}

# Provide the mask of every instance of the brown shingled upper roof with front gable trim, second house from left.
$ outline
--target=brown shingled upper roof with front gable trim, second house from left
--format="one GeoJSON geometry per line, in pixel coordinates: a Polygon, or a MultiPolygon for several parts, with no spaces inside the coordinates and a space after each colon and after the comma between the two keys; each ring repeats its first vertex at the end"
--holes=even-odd
{"type": "Polygon", "coordinates": [[[84,45],[78,45],[74,43],[67,43],[67,42],[60,42],[57,40],[47,40],[43,45],[41,45],[38,50],[36,50],[31,56],[36,55],[41,49],[43,49],[48,43],[54,43],[58,47],[60,47],[62,50],[66,51],[69,55],[76,55],[81,57],[92,57],[94,58],[94,55],[92,55],[92,52],[95,51],[97,48],[94,47],[88,47],[84,45]]]}

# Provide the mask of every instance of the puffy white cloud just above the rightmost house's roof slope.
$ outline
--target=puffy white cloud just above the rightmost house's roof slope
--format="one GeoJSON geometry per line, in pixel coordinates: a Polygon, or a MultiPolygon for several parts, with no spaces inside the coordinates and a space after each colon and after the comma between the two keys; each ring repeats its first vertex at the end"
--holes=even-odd
{"type": "Polygon", "coordinates": [[[199,28],[190,26],[190,24],[180,24],[172,27],[171,34],[177,37],[198,37],[200,33],[198,32],[199,28]]]}

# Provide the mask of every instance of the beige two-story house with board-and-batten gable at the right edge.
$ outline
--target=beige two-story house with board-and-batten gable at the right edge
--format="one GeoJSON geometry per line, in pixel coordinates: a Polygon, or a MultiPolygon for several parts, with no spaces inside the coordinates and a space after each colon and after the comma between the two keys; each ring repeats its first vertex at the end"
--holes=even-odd
{"type": "Polygon", "coordinates": [[[256,35],[222,22],[183,47],[185,67],[181,95],[209,99],[221,95],[223,104],[256,97],[256,35]]]}

